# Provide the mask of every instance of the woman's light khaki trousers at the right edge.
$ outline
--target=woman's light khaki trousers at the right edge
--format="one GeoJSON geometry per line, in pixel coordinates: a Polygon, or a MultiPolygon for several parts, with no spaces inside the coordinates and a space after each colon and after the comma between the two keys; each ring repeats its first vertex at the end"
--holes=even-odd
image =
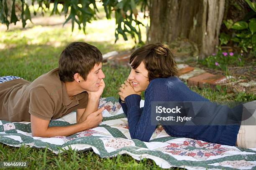
{"type": "Polygon", "coordinates": [[[237,145],[241,148],[256,148],[256,101],[247,102],[243,106],[237,145]]]}

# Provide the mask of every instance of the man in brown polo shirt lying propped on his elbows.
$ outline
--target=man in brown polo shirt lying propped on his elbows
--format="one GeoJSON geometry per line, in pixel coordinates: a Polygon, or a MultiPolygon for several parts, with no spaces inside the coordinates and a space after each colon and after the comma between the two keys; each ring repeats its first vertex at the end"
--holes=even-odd
{"type": "Polygon", "coordinates": [[[97,109],[105,83],[102,54],[85,42],[72,42],[61,52],[59,67],[33,82],[0,77],[0,120],[31,121],[37,137],[69,136],[102,121],[97,109]],[[4,80],[4,82],[3,82],[4,80]],[[77,110],[77,124],[49,127],[49,121],[77,110]]]}

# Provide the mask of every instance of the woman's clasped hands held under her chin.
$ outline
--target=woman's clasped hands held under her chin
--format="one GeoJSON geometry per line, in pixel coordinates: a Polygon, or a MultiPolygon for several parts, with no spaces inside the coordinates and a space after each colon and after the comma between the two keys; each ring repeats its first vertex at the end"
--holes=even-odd
{"type": "Polygon", "coordinates": [[[133,86],[131,85],[131,83],[129,83],[128,81],[125,80],[124,84],[121,85],[121,87],[119,88],[118,95],[120,95],[120,99],[124,101],[125,97],[127,97],[128,95],[141,95],[141,92],[136,92],[133,89],[133,86]]]}

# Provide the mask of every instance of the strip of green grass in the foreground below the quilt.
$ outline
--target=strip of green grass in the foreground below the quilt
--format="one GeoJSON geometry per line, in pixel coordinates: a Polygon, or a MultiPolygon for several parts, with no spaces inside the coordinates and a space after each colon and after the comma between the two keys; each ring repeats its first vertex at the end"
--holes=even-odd
{"type": "Polygon", "coordinates": [[[76,151],[70,148],[63,153],[54,154],[46,148],[13,148],[1,144],[0,153],[1,161],[27,162],[29,169],[161,169],[154,163],[154,161],[147,159],[137,161],[129,155],[118,155],[113,158],[100,158],[92,151],[76,151]]]}

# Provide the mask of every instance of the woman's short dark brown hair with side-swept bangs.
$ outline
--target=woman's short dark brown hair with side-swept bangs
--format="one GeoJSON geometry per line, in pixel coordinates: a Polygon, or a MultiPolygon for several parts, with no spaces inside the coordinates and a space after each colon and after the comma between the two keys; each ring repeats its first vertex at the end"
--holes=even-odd
{"type": "Polygon", "coordinates": [[[177,75],[177,63],[168,45],[162,43],[148,44],[135,50],[130,57],[130,64],[136,69],[144,62],[148,70],[148,80],[177,75]]]}

